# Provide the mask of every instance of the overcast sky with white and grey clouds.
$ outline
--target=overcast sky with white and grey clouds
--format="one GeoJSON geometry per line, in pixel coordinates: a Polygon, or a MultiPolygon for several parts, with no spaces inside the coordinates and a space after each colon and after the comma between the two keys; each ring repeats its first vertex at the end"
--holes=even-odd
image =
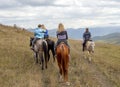
{"type": "Polygon", "coordinates": [[[0,23],[48,29],[120,26],[120,0],[0,0],[0,23]]]}

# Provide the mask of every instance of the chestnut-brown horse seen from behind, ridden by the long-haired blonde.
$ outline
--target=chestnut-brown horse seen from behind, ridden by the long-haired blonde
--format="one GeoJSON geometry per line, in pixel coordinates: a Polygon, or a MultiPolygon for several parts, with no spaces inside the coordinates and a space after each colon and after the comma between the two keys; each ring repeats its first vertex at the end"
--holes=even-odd
{"type": "Polygon", "coordinates": [[[68,63],[69,63],[69,48],[61,42],[56,48],[57,62],[59,66],[60,77],[63,76],[64,82],[69,85],[68,82],[68,63]]]}

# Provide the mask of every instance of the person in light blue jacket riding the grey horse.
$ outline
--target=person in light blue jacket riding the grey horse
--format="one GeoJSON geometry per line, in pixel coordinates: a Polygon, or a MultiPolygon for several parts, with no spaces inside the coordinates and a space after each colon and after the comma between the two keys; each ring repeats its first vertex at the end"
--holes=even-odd
{"type": "Polygon", "coordinates": [[[44,34],[46,33],[45,29],[42,29],[42,25],[39,24],[38,28],[35,29],[34,31],[34,39],[32,40],[32,47],[31,49],[34,50],[34,43],[38,40],[38,39],[44,39],[44,34]]]}

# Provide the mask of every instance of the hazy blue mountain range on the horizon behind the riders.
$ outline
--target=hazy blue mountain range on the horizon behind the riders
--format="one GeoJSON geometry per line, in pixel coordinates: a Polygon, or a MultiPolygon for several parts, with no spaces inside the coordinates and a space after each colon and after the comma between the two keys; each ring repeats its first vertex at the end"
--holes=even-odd
{"type": "MultiPolygon", "coordinates": [[[[29,31],[33,32],[34,29],[28,29],[29,31]]],[[[72,39],[82,39],[83,33],[85,31],[85,28],[68,28],[66,29],[68,32],[69,38],[72,39]]],[[[95,36],[104,36],[110,33],[120,32],[120,26],[114,26],[114,27],[95,27],[95,28],[89,28],[89,31],[92,34],[92,37],[95,36]]],[[[56,29],[49,30],[49,35],[52,37],[56,37],[56,29]]]]}

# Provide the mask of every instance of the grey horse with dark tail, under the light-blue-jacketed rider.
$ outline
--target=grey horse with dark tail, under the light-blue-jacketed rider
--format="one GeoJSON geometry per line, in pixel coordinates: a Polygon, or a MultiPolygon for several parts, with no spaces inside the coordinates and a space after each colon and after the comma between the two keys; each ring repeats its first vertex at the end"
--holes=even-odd
{"type": "Polygon", "coordinates": [[[42,62],[42,70],[44,70],[44,63],[45,68],[47,69],[47,62],[48,62],[48,46],[47,42],[44,39],[36,40],[34,44],[34,53],[35,53],[35,60],[38,63],[38,57],[40,58],[40,64],[42,62]]]}

